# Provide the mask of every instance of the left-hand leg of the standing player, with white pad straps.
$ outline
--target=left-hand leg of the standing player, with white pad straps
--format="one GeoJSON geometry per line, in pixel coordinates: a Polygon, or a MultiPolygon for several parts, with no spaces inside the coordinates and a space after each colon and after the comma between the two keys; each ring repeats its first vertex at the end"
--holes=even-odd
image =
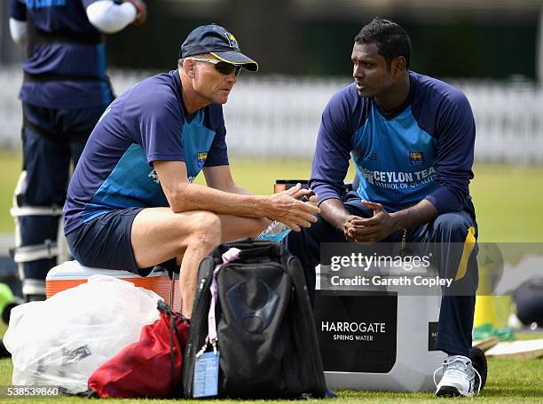
{"type": "Polygon", "coordinates": [[[56,111],[23,104],[23,114],[34,129],[23,128],[23,170],[26,179],[20,178],[16,190],[20,208],[43,208],[51,214],[19,216],[20,243],[16,260],[20,265],[23,295],[29,300],[45,298],[45,276],[57,265],[57,257],[48,246],[57,242],[59,210],[65,200],[69,151],[67,143],[50,139],[38,133],[51,131],[55,126],[56,111]],[[36,130],[37,129],[37,130],[36,130]],[[57,213],[52,213],[52,210],[57,213]],[[32,251],[31,255],[25,251],[32,251]]]}

